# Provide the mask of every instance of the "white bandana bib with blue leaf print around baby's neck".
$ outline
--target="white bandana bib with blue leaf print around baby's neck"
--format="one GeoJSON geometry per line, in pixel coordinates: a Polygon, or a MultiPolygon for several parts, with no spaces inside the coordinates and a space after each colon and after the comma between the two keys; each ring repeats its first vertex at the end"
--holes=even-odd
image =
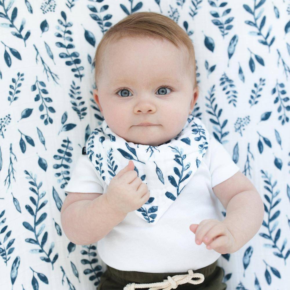
{"type": "Polygon", "coordinates": [[[138,177],[150,191],[149,200],[134,212],[149,224],[156,224],[197,171],[208,141],[209,132],[192,114],[178,135],[159,146],[127,142],[104,120],[89,135],[82,153],[108,186],[132,160],[138,177]]]}

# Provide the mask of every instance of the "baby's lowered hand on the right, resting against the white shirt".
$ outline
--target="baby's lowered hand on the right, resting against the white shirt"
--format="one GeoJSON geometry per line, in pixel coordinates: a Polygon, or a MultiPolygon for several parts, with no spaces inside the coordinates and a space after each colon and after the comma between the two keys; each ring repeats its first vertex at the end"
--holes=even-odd
{"type": "Polygon", "coordinates": [[[235,238],[226,225],[214,219],[202,220],[200,224],[191,224],[189,229],[195,233],[195,242],[206,244],[206,249],[214,249],[220,254],[232,252],[235,238]]]}

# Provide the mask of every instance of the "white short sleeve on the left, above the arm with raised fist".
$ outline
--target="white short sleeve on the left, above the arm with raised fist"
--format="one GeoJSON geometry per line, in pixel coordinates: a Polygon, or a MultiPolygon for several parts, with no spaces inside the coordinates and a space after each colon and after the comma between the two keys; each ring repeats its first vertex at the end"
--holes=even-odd
{"type": "Polygon", "coordinates": [[[87,155],[77,159],[66,192],[104,193],[102,180],[99,180],[96,169],[87,155]]]}

